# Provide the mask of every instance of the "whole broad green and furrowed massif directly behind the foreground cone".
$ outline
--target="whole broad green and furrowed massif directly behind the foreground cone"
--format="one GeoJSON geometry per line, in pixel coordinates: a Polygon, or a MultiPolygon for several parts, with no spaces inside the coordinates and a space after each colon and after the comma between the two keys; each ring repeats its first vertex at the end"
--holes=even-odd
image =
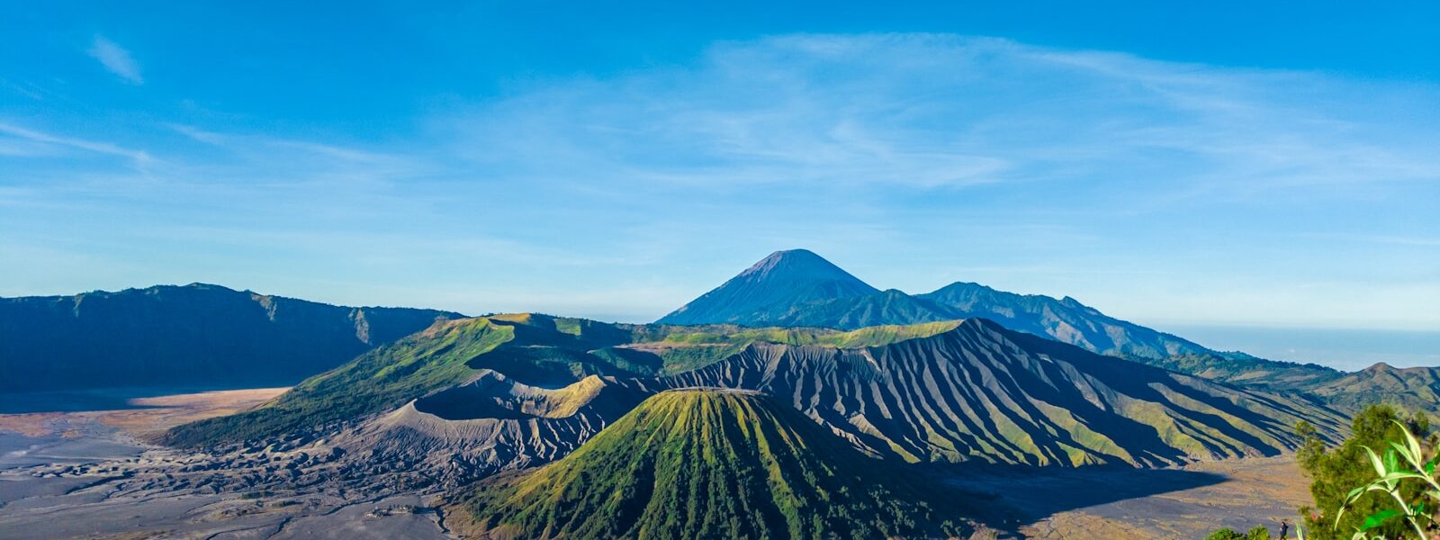
{"type": "MultiPolygon", "coordinates": [[[[904,461],[1172,465],[1274,455],[1295,446],[1292,426],[1300,419],[1328,435],[1341,423],[1336,412],[1305,399],[1097,356],[984,320],[842,333],[616,325],[518,314],[436,324],[311,377],[266,406],[174,428],[166,441],[199,446],[331,432],[413,400],[413,412],[351,439],[399,448],[384,433],[409,425],[412,435],[435,438],[405,438],[409,446],[455,455],[467,448],[488,448],[495,456],[526,454],[507,446],[514,445],[508,432],[475,428],[508,419],[514,422],[495,429],[518,433],[527,425],[546,425],[573,433],[543,442],[546,455],[559,456],[557,449],[583,442],[638,402],[626,396],[696,386],[785,396],[857,446],[904,461]],[[703,366],[688,364],[732,350],[703,366]],[[508,383],[467,384],[485,373],[500,373],[508,383]],[[517,390],[557,389],[590,376],[605,377],[602,386],[611,390],[595,393],[609,396],[602,402],[586,397],[585,410],[592,413],[585,419],[537,418],[526,405],[536,390],[517,390]],[[475,399],[498,408],[458,405],[475,399]]],[[[477,471],[510,467],[504,459],[474,461],[477,471]]]]}

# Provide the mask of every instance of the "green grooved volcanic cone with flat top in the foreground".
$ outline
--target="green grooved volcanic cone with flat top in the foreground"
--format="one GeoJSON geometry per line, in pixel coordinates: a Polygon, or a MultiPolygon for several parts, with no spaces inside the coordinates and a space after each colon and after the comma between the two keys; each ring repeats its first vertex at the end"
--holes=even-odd
{"type": "Polygon", "coordinates": [[[795,409],[739,392],[649,397],[569,456],[482,481],[492,537],[881,539],[962,528],[950,494],[867,458],[795,409]]]}

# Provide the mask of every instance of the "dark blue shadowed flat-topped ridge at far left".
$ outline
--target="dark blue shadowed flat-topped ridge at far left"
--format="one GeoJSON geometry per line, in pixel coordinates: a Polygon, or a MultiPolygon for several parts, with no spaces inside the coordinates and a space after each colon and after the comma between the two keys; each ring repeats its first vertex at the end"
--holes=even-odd
{"type": "Polygon", "coordinates": [[[0,390],[294,384],[454,317],[204,284],[0,298],[0,390]]]}

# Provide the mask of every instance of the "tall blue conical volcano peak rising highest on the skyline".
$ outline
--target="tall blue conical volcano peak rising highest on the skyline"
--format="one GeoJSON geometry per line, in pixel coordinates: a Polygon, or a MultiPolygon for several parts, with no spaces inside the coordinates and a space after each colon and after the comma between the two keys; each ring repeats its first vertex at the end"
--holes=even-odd
{"type": "Polygon", "coordinates": [[[765,325],[806,304],[876,292],[811,251],[778,251],[657,323],[765,325]]]}

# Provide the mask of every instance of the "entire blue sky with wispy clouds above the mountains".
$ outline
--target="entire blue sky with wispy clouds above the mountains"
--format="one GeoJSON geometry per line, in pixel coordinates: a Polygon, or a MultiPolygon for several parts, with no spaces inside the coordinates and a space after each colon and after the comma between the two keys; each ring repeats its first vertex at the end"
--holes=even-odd
{"type": "Polygon", "coordinates": [[[0,295],[652,320],[775,249],[1440,328],[1440,10],[10,3],[0,295]]]}

